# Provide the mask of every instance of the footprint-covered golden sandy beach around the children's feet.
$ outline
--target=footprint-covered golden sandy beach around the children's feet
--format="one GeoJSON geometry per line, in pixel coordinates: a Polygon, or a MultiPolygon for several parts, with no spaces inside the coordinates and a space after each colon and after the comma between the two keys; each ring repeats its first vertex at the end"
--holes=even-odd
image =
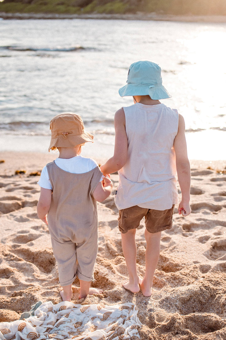
{"type": "MultiPolygon", "coordinates": [[[[0,330],[1,322],[19,320],[38,301],[62,302],[48,227],[36,213],[40,171],[56,157],[53,153],[0,153],[0,330]]],[[[76,279],[73,304],[136,305],[142,340],[226,339],[226,160],[191,160],[190,164],[192,213],[183,218],[175,207],[173,228],[162,232],[152,296],[122,287],[127,269],[114,203],[118,184],[114,174],[110,197],[98,203],[99,252],[92,286],[104,292],[79,300],[76,279]]],[[[136,235],[141,277],[144,228],[142,220],[136,235]]],[[[133,338],[139,339],[129,337],[133,338]]],[[[0,339],[11,338],[0,333],[0,339]]]]}

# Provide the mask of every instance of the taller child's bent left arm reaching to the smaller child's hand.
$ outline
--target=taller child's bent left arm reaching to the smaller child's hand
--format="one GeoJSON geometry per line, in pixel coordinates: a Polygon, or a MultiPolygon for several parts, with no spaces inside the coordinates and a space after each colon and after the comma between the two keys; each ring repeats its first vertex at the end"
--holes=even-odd
{"type": "Polygon", "coordinates": [[[128,140],[125,131],[125,113],[120,108],[115,114],[115,151],[114,156],[101,165],[104,175],[116,172],[125,165],[127,160],[128,140]]]}

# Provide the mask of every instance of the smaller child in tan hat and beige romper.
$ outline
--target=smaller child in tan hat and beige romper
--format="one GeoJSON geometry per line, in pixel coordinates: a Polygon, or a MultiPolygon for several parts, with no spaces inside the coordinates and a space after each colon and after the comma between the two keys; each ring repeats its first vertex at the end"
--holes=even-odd
{"type": "Polygon", "coordinates": [[[79,115],[59,114],[51,120],[50,129],[49,151],[57,148],[59,157],[42,169],[37,213],[49,226],[63,287],[60,295],[63,301],[70,301],[76,276],[79,299],[102,292],[90,288],[98,252],[97,201],[110,195],[112,183],[93,159],[80,156],[82,145],[93,142],[93,135],[84,130],[79,115]]]}

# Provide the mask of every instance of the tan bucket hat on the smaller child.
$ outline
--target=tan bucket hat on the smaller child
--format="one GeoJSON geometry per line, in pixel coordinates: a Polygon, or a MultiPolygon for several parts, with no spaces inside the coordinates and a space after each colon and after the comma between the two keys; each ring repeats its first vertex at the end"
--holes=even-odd
{"type": "Polygon", "coordinates": [[[53,117],[50,122],[51,141],[49,151],[55,147],[75,147],[85,142],[93,142],[93,135],[85,131],[80,115],[67,112],[53,117]]]}

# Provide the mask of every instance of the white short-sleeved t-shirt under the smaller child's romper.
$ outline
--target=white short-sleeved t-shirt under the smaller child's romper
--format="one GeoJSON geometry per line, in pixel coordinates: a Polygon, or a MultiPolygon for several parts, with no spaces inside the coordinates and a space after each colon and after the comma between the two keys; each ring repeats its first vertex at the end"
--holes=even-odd
{"type": "MultiPolygon", "coordinates": [[[[85,173],[94,169],[95,167],[98,167],[98,164],[97,162],[95,162],[95,160],[93,160],[92,158],[85,158],[82,156],[75,156],[69,159],[56,158],[55,164],[60,169],[70,173],[85,173]]],[[[101,177],[100,182],[103,180],[103,177],[104,176],[101,177]]],[[[37,183],[41,188],[52,189],[46,166],[42,169],[40,180],[37,183]]]]}

